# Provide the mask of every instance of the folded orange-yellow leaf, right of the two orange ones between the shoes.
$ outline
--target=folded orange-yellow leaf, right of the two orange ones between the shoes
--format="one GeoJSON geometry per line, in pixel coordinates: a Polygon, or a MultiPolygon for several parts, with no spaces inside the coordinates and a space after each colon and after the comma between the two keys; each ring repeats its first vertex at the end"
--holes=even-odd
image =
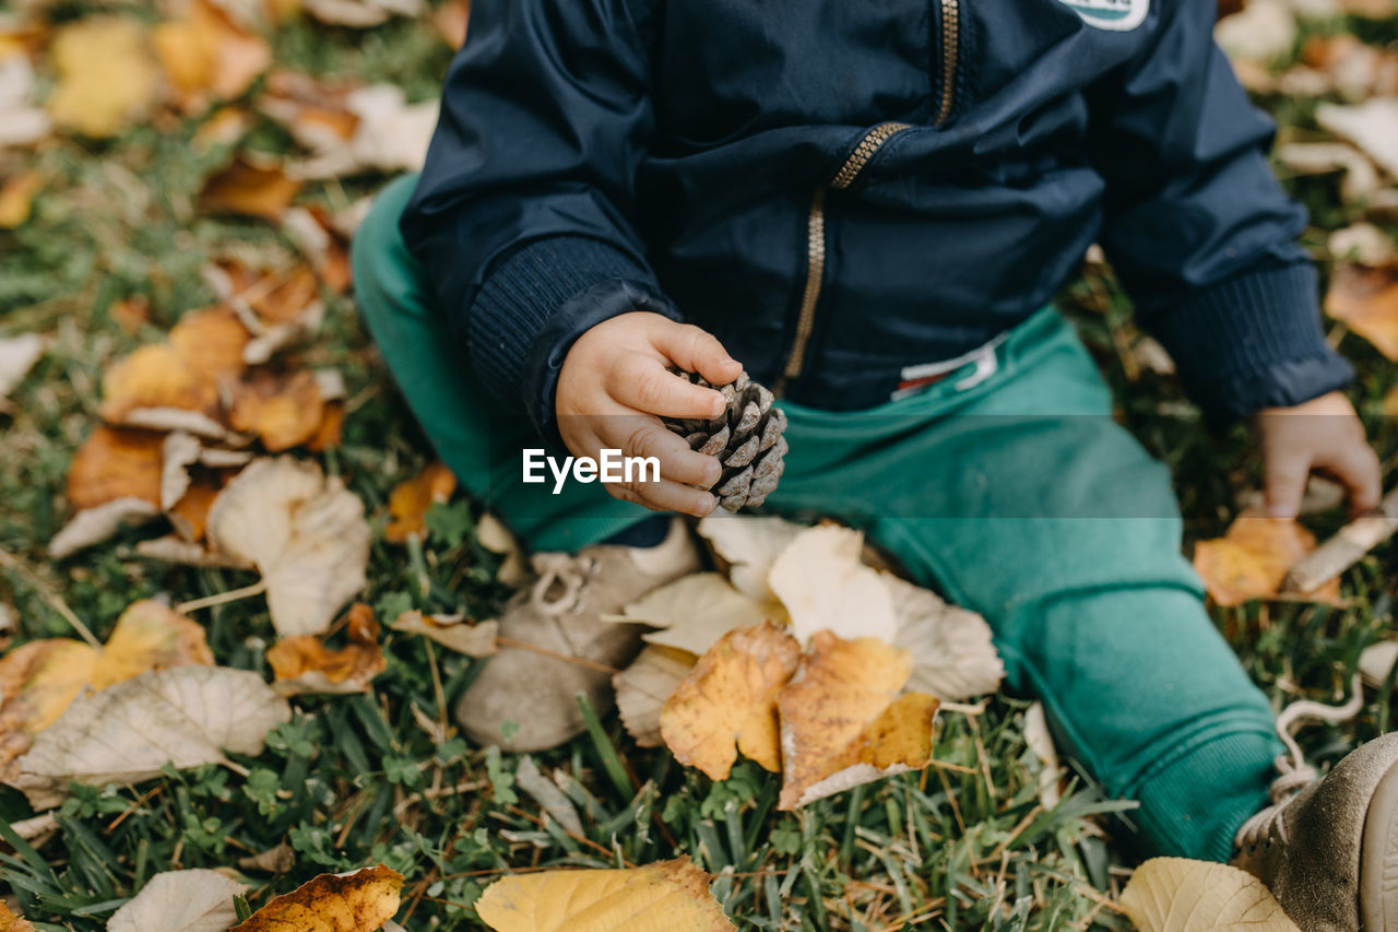
{"type": "Polygon", "coordinates": [[[798,676],[777,694],[781,796],[797,809],[881,777],[927,765],[937,700],[899,697],[911,675],[907,651],[875,638],[811,637],[798,676]]]}

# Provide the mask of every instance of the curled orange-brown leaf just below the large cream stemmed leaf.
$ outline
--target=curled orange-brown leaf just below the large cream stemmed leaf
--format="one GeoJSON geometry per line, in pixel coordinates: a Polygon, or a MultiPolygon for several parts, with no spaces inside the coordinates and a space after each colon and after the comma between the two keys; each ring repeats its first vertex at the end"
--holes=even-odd
{"type": "Polygon", "coordinates": [[[373,677],[387,669],[379,648],[373,609],[356,602],[345,626],[350,644],[330,649],[313,634],[298,634],[267,648],[271,687],[278,696],[302,693],[366,693],[373,677]]]}

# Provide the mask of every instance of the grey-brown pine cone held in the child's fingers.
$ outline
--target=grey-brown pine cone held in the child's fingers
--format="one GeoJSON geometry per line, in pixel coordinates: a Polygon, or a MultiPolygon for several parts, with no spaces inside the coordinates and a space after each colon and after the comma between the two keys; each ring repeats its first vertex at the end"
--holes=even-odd
{"type": "Polygon", "coordinates": [[[766,501],[786,469],[786,413],[772,406],[772,392],[744,372],[728,385],[710,385],[693,372],[675,372],[692,383],[717,389],[728,407],[703,418],[663,418],[665,427],[689,442],[689,448],[723,463],[723,476],[710,488],[728,511],[766,501]]]}

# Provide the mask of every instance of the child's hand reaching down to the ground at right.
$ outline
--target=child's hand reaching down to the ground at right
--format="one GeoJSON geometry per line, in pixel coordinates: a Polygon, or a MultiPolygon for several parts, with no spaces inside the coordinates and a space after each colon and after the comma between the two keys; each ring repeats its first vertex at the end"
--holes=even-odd
{"type": "Polygon", "coordinates": [[[1323,470],[1349,490],[1349,509],[1378,507],[1383,473],[1355,407],[1339,392],[1295,407],[1268,407],[1257,416],[1262,441],[1267,514],[1295,518],[1306,479],[1323,470]]]}

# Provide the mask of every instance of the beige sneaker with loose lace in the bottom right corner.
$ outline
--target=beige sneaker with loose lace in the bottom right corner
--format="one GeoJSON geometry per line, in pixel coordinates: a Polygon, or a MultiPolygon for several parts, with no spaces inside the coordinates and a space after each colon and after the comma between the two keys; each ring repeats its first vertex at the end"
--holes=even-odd
{"type": "Polygon", "coordinates": [[[1318,779],[1290,725],[1343,721],[1362,704],[1360,684],[1342,708],[1295,702],[1276,729],[1272,805],[1237,834],[1233,865],[1268,886],[1303,932],[1398,932],[1398,732],[1376,737],[1318,779]]]}

